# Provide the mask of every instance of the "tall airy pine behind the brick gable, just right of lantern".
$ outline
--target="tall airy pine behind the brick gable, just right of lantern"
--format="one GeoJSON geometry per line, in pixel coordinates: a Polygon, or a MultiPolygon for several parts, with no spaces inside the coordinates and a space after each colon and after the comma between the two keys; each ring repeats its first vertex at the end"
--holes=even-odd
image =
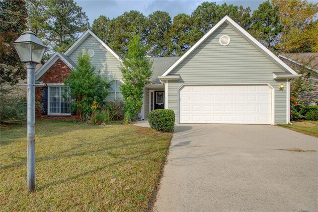
{"type": "Polygon", "coordinates": [[[89,28],[85,12],[74,0],[31,0],[27,8],[28,23],[48,51],[65,52],[89,28]]]}

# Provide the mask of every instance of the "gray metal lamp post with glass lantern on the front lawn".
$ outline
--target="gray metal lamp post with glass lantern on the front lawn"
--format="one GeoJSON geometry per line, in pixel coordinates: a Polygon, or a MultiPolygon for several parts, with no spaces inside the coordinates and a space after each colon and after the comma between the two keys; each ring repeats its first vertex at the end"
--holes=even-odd
{"type": "Polygon", "coordinates": [[[35,189],[35,67],[41,63],[46,50],[41,40],[31,30],[24,32],[12,42],[22,62],[27,68],[27,186],[28,191],[35,189]]]}

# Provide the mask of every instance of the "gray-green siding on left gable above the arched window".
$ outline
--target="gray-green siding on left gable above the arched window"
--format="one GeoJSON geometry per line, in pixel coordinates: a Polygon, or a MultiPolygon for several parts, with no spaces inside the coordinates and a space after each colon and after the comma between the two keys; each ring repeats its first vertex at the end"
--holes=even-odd
{"type": "Polygon", "coordinates": [[[121,62],[91,35],[89,35],[74,52],[72,52],[69,58],[77,64],[79,52],[85,48],[94,50],[94,56],[91,58],[91,63],[95,66],[96,71],[101,71],[101,75],[107,76],[108,81],[114,79],[122,80],[122,74],[119,69],[121,62]]]}

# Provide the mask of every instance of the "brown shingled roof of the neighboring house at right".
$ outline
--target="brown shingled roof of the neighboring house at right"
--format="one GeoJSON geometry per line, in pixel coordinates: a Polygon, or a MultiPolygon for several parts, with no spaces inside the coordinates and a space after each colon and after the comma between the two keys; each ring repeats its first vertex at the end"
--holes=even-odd
{"type": "Polygon", "coordinates": [[[282,53],[278,57],[284,58],[297,65],[306,65],[308,69],[318,71],[318,52],[282,53]]]}

